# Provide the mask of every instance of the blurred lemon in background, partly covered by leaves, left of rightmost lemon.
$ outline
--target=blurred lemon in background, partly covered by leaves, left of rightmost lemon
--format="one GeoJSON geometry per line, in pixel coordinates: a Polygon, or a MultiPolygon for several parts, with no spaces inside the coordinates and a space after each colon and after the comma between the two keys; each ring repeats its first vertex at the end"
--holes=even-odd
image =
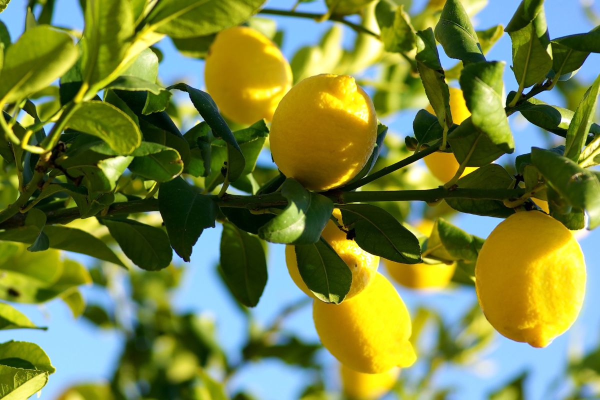
{"type": "MultiPolygon", "coordinates": [[[[416,225],[418,231],[426,236],[431,236],[434,222],[424,219],[416,225]]],[[[399,284],[413,289],[436,289],[448,285],[456,264],[403,264],[391,260],[383,260],[389,276],[399,284]]]]}

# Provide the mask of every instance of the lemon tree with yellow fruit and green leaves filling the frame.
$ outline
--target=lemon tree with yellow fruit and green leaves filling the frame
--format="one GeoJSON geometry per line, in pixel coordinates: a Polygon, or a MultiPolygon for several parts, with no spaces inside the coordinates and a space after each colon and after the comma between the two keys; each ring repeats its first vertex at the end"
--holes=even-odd
{"type": "MultiPolygon", "coordinates": [[[[22,305],[58,300],[122,333],[109,381],[59,398],[251,399],[232,382],[265,359],[306,372],[305,400],[444,398],[442,367],[473,366],[500,335],[547,347],[577,321],[573,232],[600,225],[600,77],[577,72],[600,52],[597,27],[554,37],[543,0],[479,30],[487,1],[82,0],[79,29],[58,3],[26,2],[16,31],[4,16],[23,2],[0,0],[0,330],[53,329],[22,305]],[[284,17],[327,30],[284,56],[284,17]],[[511,54],[491,57],[503,35],[511,54]],[[199,67],[176,76],[203,83],[164,80],[173,52],[199,67]],[[412,131],[386,126],[407,115],[412,131]],[[551,140],[520,146],[517,116],[551,140]],[[496,228],[475,236],[454,219],[466,214],[496,228]],[[286,284],[278,251],[308,297],[266,305],[265,321],[265,293],[286,284]],[[248,327],[233,352],[221,315],[196,312],[216,297],[173,303],[185,263],[211,257],[248,327]],[[395,287],[380,260],[401,285],[444,288],[452,305],[461,288],[473,306],[452,321],[409,309],[401,295],[434,294],[395,287]],[[113,301],[89,302],[89,285],[113,301]],[[289,329],[300,310],[312,340],[289,329]]],[[[61,365],[13,337],[0,398],[26,399],[61,365]]],[[[561,366],[569,398],[600,395],[600,350],[585,350],[561,366]]],[[[486,395],[523,393],[528,376],[486,395]]]]}

